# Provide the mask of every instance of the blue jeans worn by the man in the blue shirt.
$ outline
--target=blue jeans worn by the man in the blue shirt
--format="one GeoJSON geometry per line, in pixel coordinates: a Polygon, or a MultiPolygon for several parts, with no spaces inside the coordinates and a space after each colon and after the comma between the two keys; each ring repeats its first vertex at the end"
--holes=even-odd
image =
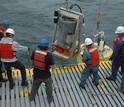
{"type": "Polygon", "coordinates": [[[81,83],[80,85],[82,87],[85,86],[86,84],[86,80],[88,79],[88,77],[93,74],[93,83],[95,85],[97,85],[99,83],[99,75],[98,75],[98,67],[99,66],[87,66],[83,71],[82,71],[82,74],[81,74],[81,83]],[[92,73],[90,72],[92,71],[92,73]]]}

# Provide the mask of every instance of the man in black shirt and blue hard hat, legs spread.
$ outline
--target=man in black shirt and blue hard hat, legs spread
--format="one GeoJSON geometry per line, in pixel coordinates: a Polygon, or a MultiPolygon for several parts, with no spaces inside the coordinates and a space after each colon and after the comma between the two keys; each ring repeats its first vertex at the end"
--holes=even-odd
{"type": "Polygon", "coordinates": [[[49,103],[53,101],[52,95],[52,78],[50,68],[55,68],[54,59],[52,54],[48,51],[49,42],[46,39],[42,39],[37,49],[32,53],[31,60],[33,64],[33,86],[31,94],[29,96],[30,101],[35,99],[38,89],[42,82],[46,86],[47,100],[49,103]]]}

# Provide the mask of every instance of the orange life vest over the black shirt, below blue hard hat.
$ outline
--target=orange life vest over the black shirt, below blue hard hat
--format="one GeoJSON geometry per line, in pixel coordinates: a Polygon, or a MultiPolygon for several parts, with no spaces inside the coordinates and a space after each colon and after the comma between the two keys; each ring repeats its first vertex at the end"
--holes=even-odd
{"type": "Polygon", "coordinates": [[[48,51],[37,49],[34,53],[33,66],[41,70],[45,70],[45,67],[46,67],[45,58],[47,53],[48,51]]]}

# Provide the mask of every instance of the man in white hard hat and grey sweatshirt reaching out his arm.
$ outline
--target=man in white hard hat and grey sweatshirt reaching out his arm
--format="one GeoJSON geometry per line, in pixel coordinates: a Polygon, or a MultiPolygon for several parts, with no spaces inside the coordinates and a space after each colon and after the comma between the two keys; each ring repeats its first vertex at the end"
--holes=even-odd
{"type": "Polygon", "coordinates": [[[11,28],[6,30],[6,37],[2,38],[0,41],[0,53],[1,61],[4,64],[4,67],[7,71],[7,76],[9,80],[9,87],[13,89],[14,81],[12,78],[12,69],[15,67],[21,71],[22,74],[22,86],[27,86],[28,82],[26,81],[26,71],[24,65],[18,61],[15,52],[17,51],[28,51],[28,47],[20,45],[18,42],[13,40],[15,36],[15,31],[11,28]]]}

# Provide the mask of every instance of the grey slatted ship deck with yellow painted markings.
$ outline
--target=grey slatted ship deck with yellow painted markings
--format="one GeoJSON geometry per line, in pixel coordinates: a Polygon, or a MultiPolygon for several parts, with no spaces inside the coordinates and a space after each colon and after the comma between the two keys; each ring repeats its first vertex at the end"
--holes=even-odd
{"type": "MultiPolygon", "coordinates": [[[[42,84],[35,101],[28,99],[32,86],[32,69],[27,69],[29,85],[21,86],[20,71],[13,70],[14,89],[9,89],[9,82],[0,87],[0,107],[124,107],[124,95],[116,91],[121,82],[118,73],[117,80],[110,82],[106,76],[111,73],[111,62],[101,62],[99,67],[100,84],[92,83],[92,77],[87,80],[86,90],[78,84],[84,64],[59,66],[52,71],[54,101],[49,105],[46,99],[45,85],[42,84]]],[[[5,75],[6,77],[6,75],[5,75]]]]}

